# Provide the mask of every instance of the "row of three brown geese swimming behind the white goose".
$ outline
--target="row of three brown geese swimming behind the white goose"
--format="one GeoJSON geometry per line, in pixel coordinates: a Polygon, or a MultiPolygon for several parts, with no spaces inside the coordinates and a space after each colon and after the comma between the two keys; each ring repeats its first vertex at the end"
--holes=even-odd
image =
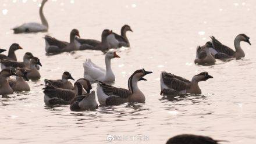
{"type": "Polygon", "coordinates": [[[58,39],[46,35],[45,39],[45,51],[49,54],[72,52],[80,50],[97,50],[106,52],[111,48],[120,48],[122,46],[129,47],[130,43],[126,37],[126,32],[132,31],[130,26],[125,24],[121,28],[121,35],[113,33],[112,30],[104,30],[101,34],[101,41],[95,39],[81,39],[79,31],[73,29],[70,32],[70,41],[59,41],[58,39]]]}

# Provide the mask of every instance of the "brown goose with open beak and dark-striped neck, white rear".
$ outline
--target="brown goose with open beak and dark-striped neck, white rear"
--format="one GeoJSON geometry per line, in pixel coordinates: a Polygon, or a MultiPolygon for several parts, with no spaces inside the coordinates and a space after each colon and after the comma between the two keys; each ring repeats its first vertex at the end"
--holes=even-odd
{"type": "Polygon", "coordinates": [[[126,102],[138,102],[144,103],[145,96],[143,92],[138,89],[138,81],[144,80],[143,78],[147,74],[151,74],[151,71],[145,69],[136,70],[130,76],[128,80],[128,88],[116,88],[111,85],[105,84],[104,82],[98,81],[97,84],[97,95],[98,102],[100,105],[120,105],[126,102]]]}

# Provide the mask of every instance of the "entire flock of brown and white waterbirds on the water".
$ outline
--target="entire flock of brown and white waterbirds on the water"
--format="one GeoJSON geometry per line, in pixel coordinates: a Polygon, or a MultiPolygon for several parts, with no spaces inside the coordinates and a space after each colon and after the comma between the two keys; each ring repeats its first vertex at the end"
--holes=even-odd
{"type": "MultiPolygon", "coordinates": [[[[37,33],[47,32],[48,22],[42,12],[45,3],[48,0],[42,0],[40,7],[40,23],[25,23],[21,26],[13,28],[15,34],[19,33],[37,33]]],[[[145,75],[152,73],[144,69],[134,71],[128,79],[128,89],[116,88],[111,85],[115,81],[115,74],[111,69],[111,59],[120,58],[113,49],[121,48],[122,46],[129,47],[130,43],[126,37],[126,32],[131,31],[127,24],[121,28],[121,33],[113,33],[112,30],[104,30],[101,34],[101,41],[95,39],[81,39],[79,31],[73,29],[70,32],[70,41],[60,41],[50,35],[45,35],[45,51],[48,55],[56,55],[61,52],[97,50],[105,53],[105,69],[94,64],[91,59],[87,59],[83,63],[84,78],[80,78],[74,84],[70,80],[74,80],[72,75],[65,71],[60,80],[44,80],[45,88],[44,102],[48,106],[55,105],[70,105],[70,110],[95,110],[98,109],[95,91],[91,91],[91,83],[97,82],[97,98],[101,106],[120,105],[127,102],[144,103],[145,96],[138,88],[138,81],[145,81],[145,75]]],[[[245,34],[239,34],[234,39],[233,49],[223,45],[215,37],[211,37],[203,46],[198,46],[196,49],[195,64],[215,64],[216,59],[240,59],[245,56],[241,49],[240,42],[248,42],[249,37],[245,34]]],[[[39,80],[40,59],[33,56],[32,53],[26,52],[23,56],[23,62],[17,62],[15,51],[22,49],[19,44],[10,45],[8,55],[0,54],[1,73],[0,73],[0,95],[9,95],[13,92],[30,91],[29,84],[26,81],[39,80]],[[10,78],[14,75],[15,78],[10,78]]],[[[0,49],[0,53],[6,49],[0,49]]],[[[201,94],[201,89],[198,82],[206,81],[213,78],[207,72],[194,75],[190,80],[183,77],[162,71],[161,73],[161,95],[176,96],[185,93],[201,94]]],[[[218,143],[207,136],[197,135],[178,135],[170,138],[167,143],[218,143]]]]}

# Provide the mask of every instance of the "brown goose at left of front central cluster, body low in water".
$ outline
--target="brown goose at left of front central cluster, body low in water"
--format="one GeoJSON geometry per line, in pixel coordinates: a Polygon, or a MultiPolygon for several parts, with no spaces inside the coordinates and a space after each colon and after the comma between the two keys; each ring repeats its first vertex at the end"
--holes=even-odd
{"type": "Polygon", "coordinates": [[[54,85],[46,85],[44,89],[44,102],[46,105],[69,105],[76,95],[83,95],[83,85],[80,82],[74,82],[74,89],[57,88],[54,85]]]}

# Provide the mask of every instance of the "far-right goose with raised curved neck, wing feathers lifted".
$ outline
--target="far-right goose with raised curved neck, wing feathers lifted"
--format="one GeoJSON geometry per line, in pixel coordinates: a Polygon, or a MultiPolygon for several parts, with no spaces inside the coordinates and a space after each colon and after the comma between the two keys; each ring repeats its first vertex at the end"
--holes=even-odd
{"type": "Polygon", "coordinates": [[[221,44],[215,37],[210,37],[212,39],[212,49],[211,53],[214,53],[216,59],[230,59],[230,58],[241,58],[244,57],[244,51],[241,49],[240,42],[248,42],[248,44],[251,45],[251,42],[249,41],[249,37],[245,34],[239,34],[236,36],[234,39],[234,48],[236,51],[233,49],[230,49],[226,45],[221,44]]]}

